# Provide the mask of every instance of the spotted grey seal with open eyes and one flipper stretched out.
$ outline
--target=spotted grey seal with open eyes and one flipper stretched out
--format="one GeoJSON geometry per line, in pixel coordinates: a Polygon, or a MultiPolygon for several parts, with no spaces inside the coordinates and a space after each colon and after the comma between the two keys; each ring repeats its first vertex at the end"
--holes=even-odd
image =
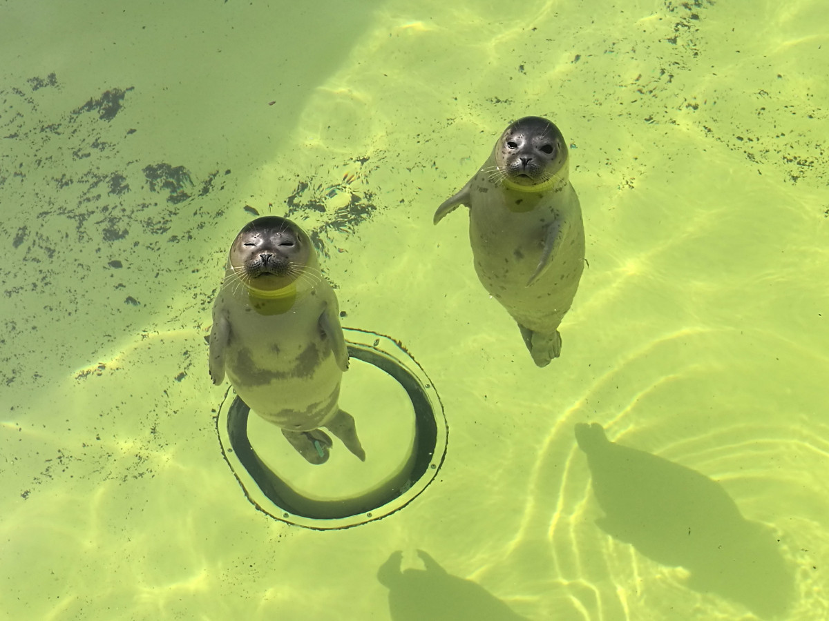
{"type": "Polygon", "coordinates": [[[559,325],[584,270],[584,224],[564,136],[546,118],[504,130],[483,166],[434,213],[469,208],[469,241],[482,285],[516,320],[539,367],[561,353],[559,325]]]}

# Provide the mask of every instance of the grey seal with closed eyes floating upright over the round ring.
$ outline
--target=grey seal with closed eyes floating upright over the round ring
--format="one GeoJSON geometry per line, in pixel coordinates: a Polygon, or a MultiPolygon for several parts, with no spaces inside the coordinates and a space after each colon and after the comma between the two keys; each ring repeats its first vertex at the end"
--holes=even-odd
{"type": "Polygon", "coordinates": [[[308,462],[328,459],[332,440],[321,427],[366,459],[354,418],[337,405],[348,368],[337,296],[303,229],[265,216],[239,232],[209,342],[213,383],[226,373],[239,398],[279,426],[308,462]]]}

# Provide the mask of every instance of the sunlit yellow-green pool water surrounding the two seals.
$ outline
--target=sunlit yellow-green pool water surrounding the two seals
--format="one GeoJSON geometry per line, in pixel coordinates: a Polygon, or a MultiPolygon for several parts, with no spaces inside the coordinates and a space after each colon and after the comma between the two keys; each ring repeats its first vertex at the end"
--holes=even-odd
{"type": "Polygon", "coordinates": [[[2,618],[827,619],[827,32],[821,2],[0,3],[2,618]],[[431,224],[526,114],[589,261],[541,369],[463,210],[431,224]],[[203,335],[252,210],[434,380],[446,460],[390,517],[277,522],[221,458],[203,335]],[[642,452],[589,462],[590,422],[642,452]]]}

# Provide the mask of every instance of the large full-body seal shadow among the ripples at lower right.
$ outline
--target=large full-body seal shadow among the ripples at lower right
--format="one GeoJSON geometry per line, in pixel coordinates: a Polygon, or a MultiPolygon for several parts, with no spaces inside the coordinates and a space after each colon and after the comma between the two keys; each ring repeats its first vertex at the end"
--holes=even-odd
{"type": "Polygon", "coordinates": [[[608,441],[597,423],[575,426],[608,535],[666,566],[691,573],[688,586],[744,604],[761,618],[786,612],[793,575],[780,544],[749,522],[719,483],[642,450],[608,441]]]}

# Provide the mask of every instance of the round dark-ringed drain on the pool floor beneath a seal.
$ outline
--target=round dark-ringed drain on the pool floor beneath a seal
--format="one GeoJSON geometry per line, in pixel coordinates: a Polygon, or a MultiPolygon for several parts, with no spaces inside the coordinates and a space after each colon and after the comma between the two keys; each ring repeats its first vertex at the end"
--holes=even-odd
{"type": "Polygon", "coordinates": [[[298,526],[357,526],[400,510],[438,474],[448,426],[438,393],[400,344],[366,330],[343,330],[350,366],[340,407],[356,421],[361,462],[334,440],[326,463],[310,465],[235,397],[216,418],[225,461],[256,508],[298,526]]]}

